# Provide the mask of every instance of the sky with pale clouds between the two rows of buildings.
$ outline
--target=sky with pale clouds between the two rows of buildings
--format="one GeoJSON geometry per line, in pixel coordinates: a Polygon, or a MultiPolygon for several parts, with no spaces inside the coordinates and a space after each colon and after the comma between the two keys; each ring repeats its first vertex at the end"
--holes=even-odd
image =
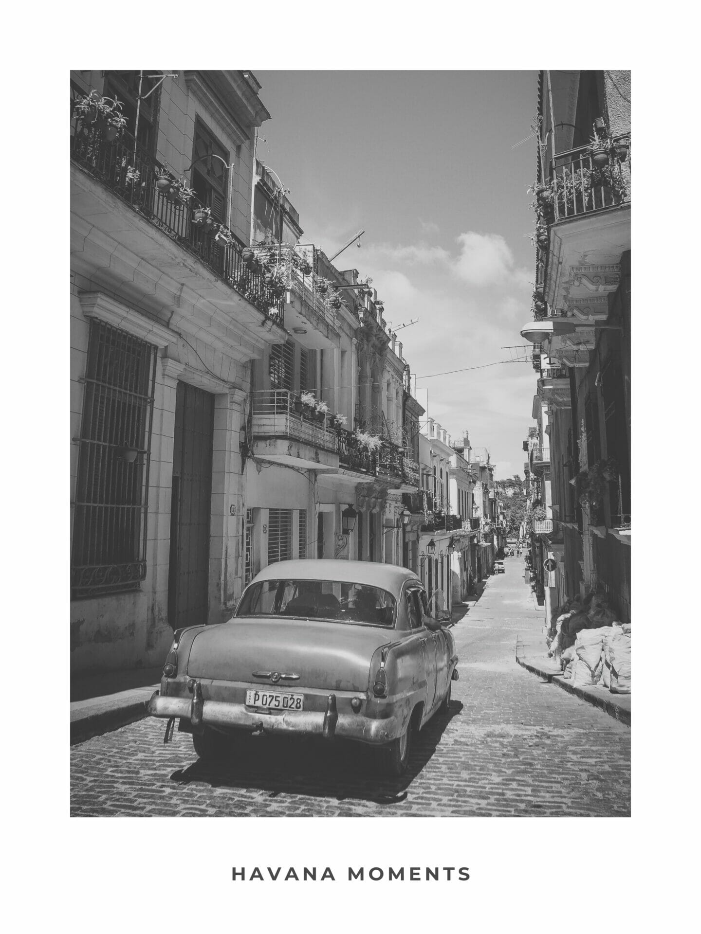
{"type": "Polygon", "coordinates": [[[501,347],[531,318],[536,71],[256,71],[257,156],[289,190],[303,242],[372,276],[428,412],[522,474],[536,374],[501,347]],[[520,145],[516,145],[520,144],[520,145]],[[431,378],[426,378],[431,377],[431,378]]]}

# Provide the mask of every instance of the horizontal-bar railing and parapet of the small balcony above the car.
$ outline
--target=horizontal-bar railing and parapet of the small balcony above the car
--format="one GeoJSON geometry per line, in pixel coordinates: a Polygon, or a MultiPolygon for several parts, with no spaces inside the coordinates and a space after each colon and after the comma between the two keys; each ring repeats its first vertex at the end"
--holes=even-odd
{"type": "Polygon", "coordinates": [[[252,433],[256,438],[290,438],[326,451],[338,451],[336,432],[325,416],[310,417],[287,389],[261,389],[253,393],[252,433]]]}

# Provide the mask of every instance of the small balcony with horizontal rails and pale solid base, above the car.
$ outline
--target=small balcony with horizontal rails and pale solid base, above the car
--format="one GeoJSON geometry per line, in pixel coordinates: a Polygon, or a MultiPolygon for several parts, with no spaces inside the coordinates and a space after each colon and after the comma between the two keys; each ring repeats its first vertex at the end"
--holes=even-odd
{"type": "Polygon", "coordinates": [[[263,389],[253,393],[253,455],[304,470],[337,470],[336,432],[328,430],[325,417],[307,417],[302,411],[296,411],[295,405],[298,406],[296,397],[286,389],[263,389]]]}

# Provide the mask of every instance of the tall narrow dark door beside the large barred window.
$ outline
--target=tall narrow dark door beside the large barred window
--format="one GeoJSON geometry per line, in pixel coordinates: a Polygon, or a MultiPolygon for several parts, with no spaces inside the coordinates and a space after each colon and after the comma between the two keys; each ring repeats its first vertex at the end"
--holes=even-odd
{"type": "Polygon", "coordinates": [[[178,384],[170,507],[168,622],[207,623],[214,396],[178,384]]]}

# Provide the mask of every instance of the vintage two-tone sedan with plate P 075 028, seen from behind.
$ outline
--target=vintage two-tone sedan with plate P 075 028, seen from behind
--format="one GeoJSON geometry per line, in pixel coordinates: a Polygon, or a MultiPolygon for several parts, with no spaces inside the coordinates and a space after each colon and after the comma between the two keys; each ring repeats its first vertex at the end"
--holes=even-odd
{"type": "Polygon", "coordinates": [[[244,733],[318,734],[378,747],[407,768],[411,737],[447,711],[457,680],[450,630],[429,616],[422,581],[366,561],[268,565],[226,623],[177,630],[149,713],[192,732],[202,758],[244,733]]]}

